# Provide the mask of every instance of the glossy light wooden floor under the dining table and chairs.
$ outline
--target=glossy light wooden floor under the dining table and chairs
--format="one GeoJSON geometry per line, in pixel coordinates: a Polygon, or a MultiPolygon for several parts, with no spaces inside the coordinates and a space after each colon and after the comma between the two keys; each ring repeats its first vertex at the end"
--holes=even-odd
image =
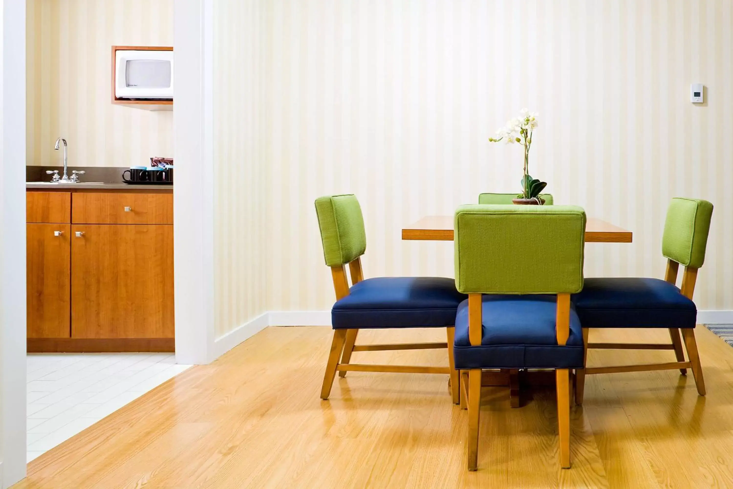
{"type": "MultiPolygon", "coordinates": [[[[512,409],[507,389],[485,388],[470,473],[466,411],[451,404],[447,375],[349,372],[322,401],[331,329],[268,328],[37,458],[14,487],[733,488],[733,348],[704,327],[697,334],[707,397],[677,370],[587,378],[570,470],[559,468],[553,391],[512,409]]],[[[410,339],[444,341],[442,331],[367,331],[359,342],[410,339]]],[[[446,362],[441,350],[354,355],[446,362]]],[[[589,364],[672,355],[596,350],[589,364]]]]}

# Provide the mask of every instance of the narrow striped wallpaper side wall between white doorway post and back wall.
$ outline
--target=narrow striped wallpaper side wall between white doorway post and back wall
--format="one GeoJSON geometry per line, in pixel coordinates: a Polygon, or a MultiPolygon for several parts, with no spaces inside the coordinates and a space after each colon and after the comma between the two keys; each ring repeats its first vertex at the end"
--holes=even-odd
{"type": "Polygon", "coordinates": [[[268,282],[266,0],[215,0],[215,333],[265,312],[268,282]]]}

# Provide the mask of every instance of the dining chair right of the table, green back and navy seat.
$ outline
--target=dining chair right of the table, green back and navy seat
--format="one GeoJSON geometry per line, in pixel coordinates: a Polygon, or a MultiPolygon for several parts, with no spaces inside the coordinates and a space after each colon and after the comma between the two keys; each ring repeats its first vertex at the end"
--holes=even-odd
{"type": "Polygon", "coordinates": [[[575,402],[583,404],[585,376],[590,374],[692,369],[697,391],[705,395],[700,357],[695,340],[697,308],[692,301],[697,271],[705,261],[712,204],[699,199],[672,199],[664,224],[662,254],[667,258],[664,280],[650,278],[586,279],[572,301],[581,318],[586,355],[588,348],[612,350],[674,350],[677,361],[657,364],[585,367],[575,372],[575,402]],[[685,267],[682,289],[677,288],[679,265],[685,267]],[[665,328],[671,343],[589,343],[590,328],[665,328]],[[682,351],[685,341],[688,361],[682,351]]]}

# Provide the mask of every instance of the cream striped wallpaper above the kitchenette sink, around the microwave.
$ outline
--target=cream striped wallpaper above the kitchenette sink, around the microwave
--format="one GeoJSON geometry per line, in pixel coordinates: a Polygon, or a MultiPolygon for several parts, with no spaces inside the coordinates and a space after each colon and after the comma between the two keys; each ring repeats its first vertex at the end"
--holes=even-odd
{"type": "Polygon", "coordinates": [[[113,106],[112,45],[172,45],[174,0],[27,0],[29,165],[130,166],[173,155],[172,112],[113,106]]]}

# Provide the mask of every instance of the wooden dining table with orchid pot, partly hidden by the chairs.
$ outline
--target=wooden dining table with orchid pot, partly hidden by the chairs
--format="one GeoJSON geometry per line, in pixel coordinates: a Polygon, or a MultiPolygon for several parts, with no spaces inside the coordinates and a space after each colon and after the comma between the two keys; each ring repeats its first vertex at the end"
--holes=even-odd
{"type": "MultiPolygon", "coordinates": [[[[632,238],[632,232],[622,227],[597,218],[586,220],[586,243],[631,243],[632,238]]],[[[420,218],[402,228],[402,240],[452,241],[453,216],[420,218]]],[[[481,383],[482,386],[509,387],[509,404],[512,408],[518,408],[525,397],[523,391],[527,386],[554,386],[555,373],[547,370],[485,370],[481,383]]]]}

